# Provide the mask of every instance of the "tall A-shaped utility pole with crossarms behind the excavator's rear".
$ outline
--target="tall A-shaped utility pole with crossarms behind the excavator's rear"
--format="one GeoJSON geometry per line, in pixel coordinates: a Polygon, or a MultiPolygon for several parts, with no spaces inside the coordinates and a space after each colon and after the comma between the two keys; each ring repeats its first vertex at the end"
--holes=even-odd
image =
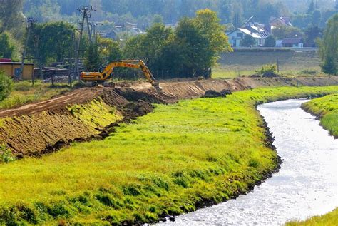
{"type": "Polygon", "coordinates": [[[80,12],[82,19],[81,19],[81,23],[80,23],[80,37],[78,38],[78,46],[76,49],[76,59],[75,59],[75,65],[76,65],[76,73],[75,76],[78,76],[78,79],[80,80],[80,70],[78,68],[78,58],[80,55],[80,46],[81,46],[81,39],[82,39],[82,35],[83,35],[83,26],[86,20],[87,23],[87,29],[88,29],[88,37],[89,37],[89,41],[91,42],[91,44],[93,44],[93,41],[91,39],[91,28],[89,26],[89,18],[91,18],[91,12],[95,11],[95,9],[93,9],[93,6],[89,7],[89,6],[82,6],[82,8],[80,8],[78,6],[78,11],[80,12]]]}

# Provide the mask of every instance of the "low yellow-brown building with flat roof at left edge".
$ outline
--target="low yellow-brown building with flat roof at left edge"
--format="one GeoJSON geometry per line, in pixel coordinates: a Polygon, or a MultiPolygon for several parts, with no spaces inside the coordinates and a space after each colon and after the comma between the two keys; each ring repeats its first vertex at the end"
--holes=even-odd
{"type": "MultiPolygon", "coordinates": [[[[0,71],[11,77],[21,74],[21,62],[0,62],[0,71]]],[[[29,80],[34,75],[34,63],[24,63],[23,79],[29,80]]]]}

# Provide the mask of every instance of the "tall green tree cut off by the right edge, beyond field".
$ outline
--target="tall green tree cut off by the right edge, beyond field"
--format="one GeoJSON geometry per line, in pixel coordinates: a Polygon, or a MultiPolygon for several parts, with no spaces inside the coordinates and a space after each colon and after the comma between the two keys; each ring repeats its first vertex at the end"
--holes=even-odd
{"type": "Polygon", "coordinates": [[[319,53],[322,57],[322,71],[337,75],[338,69],[338,14],[327,22],[324,37],[319,43],[319,53]]]}

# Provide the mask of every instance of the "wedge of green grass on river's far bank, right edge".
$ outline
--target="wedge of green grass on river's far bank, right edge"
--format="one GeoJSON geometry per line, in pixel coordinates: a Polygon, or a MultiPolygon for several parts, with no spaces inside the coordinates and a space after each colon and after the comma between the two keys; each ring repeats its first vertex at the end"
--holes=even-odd
{"type": "Polygon", "coordinates": [[[302,108],[319,116],[321,125],[338,138],[338,94],[314,99],[304,103],[302,108]]]}

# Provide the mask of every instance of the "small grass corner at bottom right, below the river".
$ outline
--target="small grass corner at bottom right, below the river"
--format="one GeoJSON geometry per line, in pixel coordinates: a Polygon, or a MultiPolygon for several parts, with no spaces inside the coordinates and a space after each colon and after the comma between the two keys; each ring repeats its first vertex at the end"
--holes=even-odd
{"type": "Polygon", "coordinates": [[[311,217],[303,222],[288,222],[286,226],[335,226],[338,225],[338,208],[322,216],[311,217]]]}

